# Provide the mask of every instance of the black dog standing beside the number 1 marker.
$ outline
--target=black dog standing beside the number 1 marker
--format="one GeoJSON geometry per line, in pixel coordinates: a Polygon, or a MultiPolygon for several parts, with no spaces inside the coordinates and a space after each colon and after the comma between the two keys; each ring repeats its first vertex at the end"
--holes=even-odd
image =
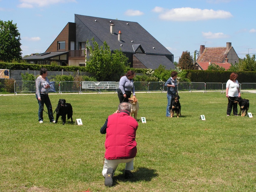
{"type": "Polygon", "coordinates": [[[66,123],[66,115],[68,115],[68,119],[71,118],[71,122],[73,123],[73,109],[70,103],[66,103],[65,99],[60,99],[59,103],[56,108],[56,121],[58,122],[59,117],[61,116],[61,119],[63,121],[63,125],[66,123]]]}

